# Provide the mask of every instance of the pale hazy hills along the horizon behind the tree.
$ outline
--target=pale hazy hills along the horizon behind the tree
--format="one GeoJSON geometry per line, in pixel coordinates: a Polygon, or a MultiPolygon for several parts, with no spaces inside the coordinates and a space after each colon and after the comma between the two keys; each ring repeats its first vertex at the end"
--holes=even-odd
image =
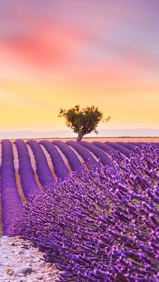
{"type": "MultiPolygon", "coordinates": [[[[159,129],[100,129],[99,134],[90,133],[86,137],[159,137],[159,129]]],[[[56,130],[49,132],[15,131],[1,132],[0,139],[29,139],[29,138],[70,138],[77,137],[71,130],[56,130]]]]}

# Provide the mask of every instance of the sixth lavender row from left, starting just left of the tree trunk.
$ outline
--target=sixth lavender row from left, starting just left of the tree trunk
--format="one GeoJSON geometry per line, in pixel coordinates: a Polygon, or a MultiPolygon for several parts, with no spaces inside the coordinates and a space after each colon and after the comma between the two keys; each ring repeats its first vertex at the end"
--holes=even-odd
{"type": "Polygon", "coordinates": [[[91,164],[93,164],[93,166],[100,168],[98,161],[95,159],[95,157],[93,157],[93,155],[90,154],[90,151],[88,149],[86,149],[81,144],[79,144],[79,142],[70,140],[70,141],[66,141],[66,144],[69,145],[70,147],[72,147],[73,149],[75,149],[76,152],[78,152],[78,154],[81,155],[81,157],[86,162],[86,164],[91,162],[91,164]]]}

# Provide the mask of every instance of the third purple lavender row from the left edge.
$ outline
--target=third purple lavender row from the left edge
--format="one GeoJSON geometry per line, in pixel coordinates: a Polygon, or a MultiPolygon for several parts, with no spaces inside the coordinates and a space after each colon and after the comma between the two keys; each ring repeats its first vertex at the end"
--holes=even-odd
{"type": "Polygon", "coordinates": [[[37,174],[42,186],[54,183],[54,177],[52,176],[52,172],[49,169],[47,158],[45,157],[40,144],[35,140],[28,140],[27,144],[30,145],[31,149],[33,150],[37,166],[37,174]]]}

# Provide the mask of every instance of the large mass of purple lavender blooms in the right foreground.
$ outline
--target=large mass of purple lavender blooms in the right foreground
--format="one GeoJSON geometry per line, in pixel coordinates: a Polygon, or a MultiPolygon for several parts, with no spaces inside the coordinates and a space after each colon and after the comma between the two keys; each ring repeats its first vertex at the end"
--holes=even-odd
{"type": "Polygon", "coordinates": [[[112,166],[72,173],[20,211],[10,235],[31,240],[78,282],[159,281],[159,151],[117,152],[112,166]]]}

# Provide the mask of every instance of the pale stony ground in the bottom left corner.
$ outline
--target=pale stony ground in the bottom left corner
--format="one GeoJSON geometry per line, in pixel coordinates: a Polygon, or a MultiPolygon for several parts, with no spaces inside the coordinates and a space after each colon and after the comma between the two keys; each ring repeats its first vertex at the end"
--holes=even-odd
{"type": "Polygon", "coordinates": [[[42,252],[19,238],[0,239],[0,281],[59,281],[59,270],[42,260],[42,252]]]}

